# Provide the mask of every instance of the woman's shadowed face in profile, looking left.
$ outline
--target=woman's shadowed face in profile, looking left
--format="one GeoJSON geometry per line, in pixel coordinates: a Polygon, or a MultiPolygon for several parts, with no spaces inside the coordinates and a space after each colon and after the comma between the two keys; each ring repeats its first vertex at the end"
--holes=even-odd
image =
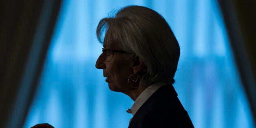
{"type": "MultiPolygon", "coordinates": [[[[106,50],[123,50],[111,42],[104,42],[103,47],[106,50]]],[[[106,77],[110,90],[127,94],[131,90],[128,77],[133,74],[133,68],[131,63],[124,60],[124,55],[126,54],[114,53],[112,59],[106,61],[102,53],[95,66],[98,69],[103,69],[103,76],[106,77]]]]}

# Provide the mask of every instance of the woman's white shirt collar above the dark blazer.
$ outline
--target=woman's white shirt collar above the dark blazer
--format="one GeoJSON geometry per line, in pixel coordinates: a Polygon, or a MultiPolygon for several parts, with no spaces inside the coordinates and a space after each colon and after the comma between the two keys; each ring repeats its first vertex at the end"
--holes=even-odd
{"type": "MultiPolygon", "coordinates": [[[[132,111],[132,116],[135,115],[137,110],[146,102],[146,100],[161,86],[166,85],[166,83],[154,83],[148,86],[141,95],[135,100],[135,102],[132,105],[132,108],[130,109],[132,111]]],[[[129,109],[128,109],[129,110],[129,109]]]]}

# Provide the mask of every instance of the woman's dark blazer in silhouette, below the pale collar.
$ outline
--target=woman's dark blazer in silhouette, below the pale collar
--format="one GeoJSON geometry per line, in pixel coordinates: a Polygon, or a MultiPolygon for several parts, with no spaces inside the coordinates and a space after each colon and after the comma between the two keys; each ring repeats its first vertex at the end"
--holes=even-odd
{"type": "Polygon", "coordinates": [[[128,128],[194,128],[171,84],[161,86],[136,112],[128,128]]]}

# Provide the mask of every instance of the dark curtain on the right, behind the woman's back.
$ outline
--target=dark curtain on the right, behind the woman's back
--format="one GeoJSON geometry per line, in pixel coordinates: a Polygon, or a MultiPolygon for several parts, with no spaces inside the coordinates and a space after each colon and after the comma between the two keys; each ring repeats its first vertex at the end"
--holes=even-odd
{"type": "Polygon", "coordinates": [[[256,1],[218,0],[256,124],[256,1]]]}

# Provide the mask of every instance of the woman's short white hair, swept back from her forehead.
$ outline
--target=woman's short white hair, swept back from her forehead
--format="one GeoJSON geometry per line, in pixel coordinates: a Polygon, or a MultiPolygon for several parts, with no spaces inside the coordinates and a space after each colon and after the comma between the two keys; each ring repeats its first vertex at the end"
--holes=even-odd
{"type": "Polygon", "coordinates": [[[100,20],[99,42],[112,42],[135,53],[145,64],[138,75],[145,85],[171,83],[177,70],[180,47],[169,24],[156,11],[142,6],[126,6],[113,17],[100,20]]]}

